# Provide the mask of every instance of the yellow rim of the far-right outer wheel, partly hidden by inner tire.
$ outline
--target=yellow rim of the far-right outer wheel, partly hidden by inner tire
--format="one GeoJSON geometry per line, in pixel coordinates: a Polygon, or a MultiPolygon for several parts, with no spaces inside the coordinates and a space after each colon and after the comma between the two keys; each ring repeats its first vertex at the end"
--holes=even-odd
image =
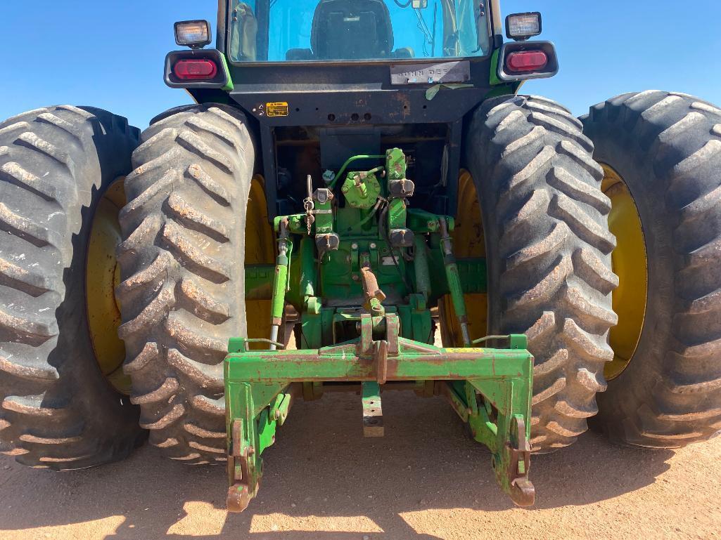
{"type": "Polygon", "coordinates": [[[619,287],[613,293],[619,323],[609,333],[614,360],[603,370],[606,379],[611,380],[627,368],[641,338],[648,297],[648,261],[641,218],[631,192],[613,168],[603,165],[603,171],[601,189],[611,199],[609,229],[616,235],[611,264],[619,276],[619,287]]]}

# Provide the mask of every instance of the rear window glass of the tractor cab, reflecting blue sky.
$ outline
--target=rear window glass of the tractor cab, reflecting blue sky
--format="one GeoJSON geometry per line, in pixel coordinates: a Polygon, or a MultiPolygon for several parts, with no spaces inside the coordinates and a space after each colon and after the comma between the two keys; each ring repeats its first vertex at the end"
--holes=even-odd
{"type": "Polygon", "coordinates": [[[487,12],[473,0],[231,2],[233,62],[485,56],[487,12]]]}

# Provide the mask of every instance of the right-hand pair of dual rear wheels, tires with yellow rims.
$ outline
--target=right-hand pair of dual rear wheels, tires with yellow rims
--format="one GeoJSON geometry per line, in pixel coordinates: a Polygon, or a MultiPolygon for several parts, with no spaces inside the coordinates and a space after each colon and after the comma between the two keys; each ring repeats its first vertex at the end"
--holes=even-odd
{"type": "Polygon", "coordinates": [[[456,246],[488,261],[487,297],[466,300],[490,306],[474,337],[528,335],[536,451],[587,419],[658,448],[721,429],[720,122],[662,91],[580,120],[532,96],[475,114],[456,246]]]}

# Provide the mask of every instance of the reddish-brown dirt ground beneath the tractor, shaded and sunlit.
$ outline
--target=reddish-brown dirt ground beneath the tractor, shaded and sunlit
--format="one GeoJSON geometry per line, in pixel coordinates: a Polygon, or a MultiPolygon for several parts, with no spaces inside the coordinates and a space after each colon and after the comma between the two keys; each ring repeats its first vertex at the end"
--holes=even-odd
{"type": "Polygon", "coordinates": [[[71,473],[0,456],[0,539],[721,539],[721,437],[680,451],[587,433],[534,456],[536,506],[514,508],[490,457],[438,398],[384,394],[384,438],[363,438],[352,394],[298,402],[267,450],[260,495],[224,510],[224,467],[144,446],[71,473]]]}

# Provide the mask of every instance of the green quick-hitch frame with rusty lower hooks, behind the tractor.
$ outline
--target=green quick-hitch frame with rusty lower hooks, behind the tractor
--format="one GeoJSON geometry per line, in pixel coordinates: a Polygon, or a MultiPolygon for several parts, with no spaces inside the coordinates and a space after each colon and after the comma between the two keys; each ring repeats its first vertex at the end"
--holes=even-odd
{"type": "Polygon", "coordinates": [[[503,336],[508,348],[438,348],[399,338],[398,329],[396,314],[366,314],[360,338],[314,350],[249,351],[249,342],[269,341],[231,339],[225,361],[228,510],[241,512],[257,495],[261,454],[303,394],[296,383],[330,381],[361,383],[366,436],[383,435],[379,390],[386,381],[435,381],[435,393],[490,449],[500,488],[517,505],[534,503],[528,480],[533,357],[526,336],[503,336]],[[373,332],[379,326],[386,330],[381,339],[373,332]]]}

